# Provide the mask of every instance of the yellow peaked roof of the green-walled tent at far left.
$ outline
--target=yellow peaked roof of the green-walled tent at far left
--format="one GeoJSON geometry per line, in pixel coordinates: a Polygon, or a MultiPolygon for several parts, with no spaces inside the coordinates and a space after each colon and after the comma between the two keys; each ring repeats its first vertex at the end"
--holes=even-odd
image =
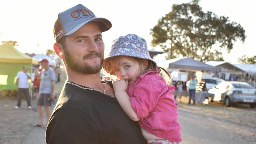
{"type": "Polygon", "coordinates": [[[1,63],[32,63],[38,64],[36,59],[23,54],[16,50],[12,44],[5,42],[0,45],[0,62],[1,63]]]}

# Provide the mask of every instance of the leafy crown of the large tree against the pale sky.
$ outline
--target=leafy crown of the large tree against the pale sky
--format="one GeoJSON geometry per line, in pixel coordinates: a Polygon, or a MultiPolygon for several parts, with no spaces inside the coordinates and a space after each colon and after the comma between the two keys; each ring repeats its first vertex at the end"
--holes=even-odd
{"type": "Polygon", "coordinates": [[[182,54],[207,61],[222,60],[223,50],[230,52],[237,39],[245,41],[245,30],[240,24],[210,11],[204,13],[198,2],[174,4],[172,11],[150,30],[152,46],[169,51],[168,58],[182,54]]]}

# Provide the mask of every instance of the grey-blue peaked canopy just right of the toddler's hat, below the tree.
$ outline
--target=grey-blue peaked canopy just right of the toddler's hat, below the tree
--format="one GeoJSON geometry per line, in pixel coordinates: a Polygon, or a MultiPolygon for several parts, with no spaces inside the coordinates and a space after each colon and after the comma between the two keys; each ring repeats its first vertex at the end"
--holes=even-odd
{"type": "Polygon", "coordinates": [[[158,63],[157,65],[165,69],[171,68],[171,69],[179,69],[179,70],[186,70],[186,71],[198,71],[198,70],[219,71],[220,70],[220,68],[207,65],[203,62],[196,61],[195,59],[189,58],[189,57],[169,59],[161,63],[158,63]]]}

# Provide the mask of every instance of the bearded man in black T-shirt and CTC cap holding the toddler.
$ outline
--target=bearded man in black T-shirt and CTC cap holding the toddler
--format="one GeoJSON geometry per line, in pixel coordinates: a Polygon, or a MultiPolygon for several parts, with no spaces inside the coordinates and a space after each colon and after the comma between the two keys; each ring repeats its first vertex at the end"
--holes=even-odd
{"type": "Polygon", "coordinates": [[[46,129],[47,144],[146,144],[137,122],[124,113],[112,85],[100,80],[104,55],[101,33],[111,28],[78,4],[54,26],[54,50],[65,64],[67,81],[46,129]]]}

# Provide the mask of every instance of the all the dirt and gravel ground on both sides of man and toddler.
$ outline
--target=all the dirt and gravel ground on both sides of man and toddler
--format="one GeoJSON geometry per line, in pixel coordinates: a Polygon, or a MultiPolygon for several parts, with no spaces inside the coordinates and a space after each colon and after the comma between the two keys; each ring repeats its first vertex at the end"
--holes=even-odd
{"type": "MultiPolygon", "coordinates": [[[[62,70],[61,81],[56,84],[55,89],[57,96],[65,79],[65,72],[62,70]]],[[[225,107],[219,103],[191,106],[187,105],[187,101],[187,96],[182,96],[182,103],[179,103],[178,108],[179,122],[182,124],[182,144],[256,144],[256,109],[251,109],[248,105],[225,107]],[[195,124],[198,125],[194,126],[195,124]]],[[[52,103],[53,107],[55,103],[56,100],[52,103]]],[[[0,97],[0,144],[20,144],[33,130],[33,124],[38,122],[38,112],[28,110],[25,99],[19,110],[14,109],[16,104],[16,98],[0,97]]],[[[32,107],[35,105],[33,99],[32,107]]]]}

